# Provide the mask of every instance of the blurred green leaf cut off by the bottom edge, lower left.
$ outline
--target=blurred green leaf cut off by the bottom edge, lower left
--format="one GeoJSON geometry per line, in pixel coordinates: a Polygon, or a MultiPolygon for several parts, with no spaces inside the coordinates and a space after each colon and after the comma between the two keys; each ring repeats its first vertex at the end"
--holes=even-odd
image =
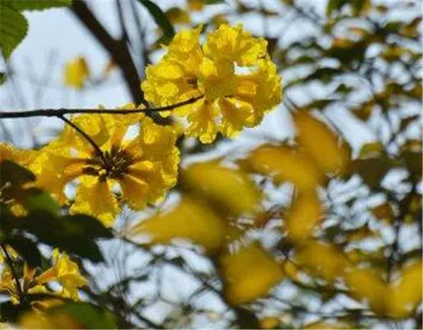
{"type": "Polygon", "coordinates": [[[84,325],[84,329],[117,329],[114,316],[108,310],[90,303],[66,303],[54,309],[54,312],[60,311],[74,317],[84,325]]]}

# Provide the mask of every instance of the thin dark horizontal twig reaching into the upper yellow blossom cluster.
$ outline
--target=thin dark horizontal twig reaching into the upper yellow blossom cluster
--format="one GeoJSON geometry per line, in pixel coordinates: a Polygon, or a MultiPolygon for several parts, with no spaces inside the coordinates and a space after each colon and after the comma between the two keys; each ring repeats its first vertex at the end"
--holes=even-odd
{"type": "Polygon", "coordinates": [[[196,96],[186,101],[171,104],[169,106],[161,106],[158,108],[143,108],[143,109],[38,109],[38,110],[28,110],[28,111],[6,111],[0,113],[0,118],[28,118],[28,117],[61,117],[63,115],[70,115],[75,113],[94,113],[97,115],[102,114],[112,114],[112,115],[128,115],[130,113],[155,113],[160,111],[173,110],[179,108],[180,106],[187,106],[190,103],[194,103],[202,99],[204,95],[196,96]]]}

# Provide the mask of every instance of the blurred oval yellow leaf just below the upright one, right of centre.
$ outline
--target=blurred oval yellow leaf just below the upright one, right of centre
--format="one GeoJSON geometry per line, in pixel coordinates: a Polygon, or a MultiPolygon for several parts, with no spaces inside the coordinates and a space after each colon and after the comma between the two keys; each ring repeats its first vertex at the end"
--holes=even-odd
{"type": "Polygon", "coordinates": [[[304,267],[315,276],[335,281],[343,276],[348,260],[335,246],[319,241],[309,241],[295,253],[298,266],[304,267]]]}

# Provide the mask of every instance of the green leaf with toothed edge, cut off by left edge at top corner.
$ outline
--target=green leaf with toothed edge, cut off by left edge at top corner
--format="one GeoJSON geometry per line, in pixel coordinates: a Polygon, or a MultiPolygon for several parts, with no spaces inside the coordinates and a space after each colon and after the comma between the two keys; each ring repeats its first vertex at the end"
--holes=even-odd
{"type": "Polygon", "coordinates": [[[13,8],[13,3],[0,2],[0,46],[1,53],[7,60],[16,46],[26,36],[28,23],[26,18],[13,8]]]}

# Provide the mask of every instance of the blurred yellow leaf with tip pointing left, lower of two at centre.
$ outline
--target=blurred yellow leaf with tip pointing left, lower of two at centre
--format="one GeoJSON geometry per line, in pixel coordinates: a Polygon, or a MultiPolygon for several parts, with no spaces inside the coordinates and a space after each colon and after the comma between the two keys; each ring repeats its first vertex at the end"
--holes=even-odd
{"type": "Polygon", "coordinates": [[[168,244],[173,239],[188,239],[200,244],[209,253],[215,253],[223,245],[226,224],[213,210],[195,198],[185,196],[172,210],[165,210],[130,229],[131,239],[140,235],[150,238],[149,244],[168,244]]]}

